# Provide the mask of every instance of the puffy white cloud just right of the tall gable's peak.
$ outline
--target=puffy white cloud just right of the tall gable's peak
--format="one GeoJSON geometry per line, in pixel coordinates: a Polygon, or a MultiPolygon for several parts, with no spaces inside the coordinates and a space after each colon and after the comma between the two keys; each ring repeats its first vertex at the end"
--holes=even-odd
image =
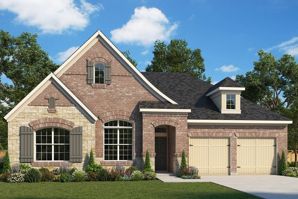
{"type": "Polygon", "coordinates": [[[169,40],[177,27],[177,23],[170,23],[164,13],[157,8],[137,7],[126,24],[111,31],[111,40],[116,43],[150,46],[157,39],[169,40]]]}

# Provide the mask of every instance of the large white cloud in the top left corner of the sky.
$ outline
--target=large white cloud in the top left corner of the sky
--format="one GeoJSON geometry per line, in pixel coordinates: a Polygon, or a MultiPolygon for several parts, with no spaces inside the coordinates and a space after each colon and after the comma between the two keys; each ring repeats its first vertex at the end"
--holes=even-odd
{"type": "Polygon", "coordinates": [[[69,30],[83,30],[89,24],[89,15],[103,10],[103,6],[92,5],[85,0],[80,0],[79,7],[74,0],[10,0],[0,1],[0,10],[17,14],[16,21],[37,27],[42,33],[61,34],[69,30]]]}

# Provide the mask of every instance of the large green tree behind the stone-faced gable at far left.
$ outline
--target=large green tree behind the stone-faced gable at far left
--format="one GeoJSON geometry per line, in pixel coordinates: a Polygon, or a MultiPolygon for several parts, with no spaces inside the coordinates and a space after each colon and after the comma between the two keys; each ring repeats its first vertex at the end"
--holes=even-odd
{"type": "Polygon", "coordinates": [[[37,44],[37,34],[10,36],[0,30],[0,143],[7,149],[4,116],[59,66],[37,44]],[[9,79],[5,80],[6,78],[9,79]],[[9,84],[12,82],[12,84],[9,84]]]}

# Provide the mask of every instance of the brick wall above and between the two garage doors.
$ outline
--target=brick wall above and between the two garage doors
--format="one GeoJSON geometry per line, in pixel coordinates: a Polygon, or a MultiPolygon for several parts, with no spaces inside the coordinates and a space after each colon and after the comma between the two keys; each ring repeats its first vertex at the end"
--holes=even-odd
{"type": "MultiPolygon", "coordinates": [[[[231,175],[237,173],[237,137],[277,137],[277,171],[282,151],[288,148],[287,126],[188,125],[187,134],[195,137],[231,137],[231,175]]],[[[287,159],[288,154],[285,155],[287,159]]]]}

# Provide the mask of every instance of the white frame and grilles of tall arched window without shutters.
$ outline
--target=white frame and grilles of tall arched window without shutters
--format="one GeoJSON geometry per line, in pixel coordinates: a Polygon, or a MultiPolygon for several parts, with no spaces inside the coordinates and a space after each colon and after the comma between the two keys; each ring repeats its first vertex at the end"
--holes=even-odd
{"type": "Polygon", "coordinates": [[[105,123],[103,123],[103,161],[114,161],[114,162],[118,162],[118,161],[133,161],[134,160],[134,123],[132,123],[131,121],[127,121],[127,120],[121,120],[121,121],[126,121],[132,124],[132,127],[120,127],[119,126],[119,121],[121,119],[118,120],[109,120],[106,121],[105,123],[111,122],[111,121],[117,121],[117,127],[105,127],[105,123]],[[116,144],[105,144],[105,129],[116,129],[117,128],[117,160],[105,160],[105,145],[116,145],[116,144]],[[119,143],[119,129],[132,129],[132,144],[118,144],[119,143]],[[131,155],[131,160],[119,160],[119,145],[131,145],[132,147],[132,155],[131,155]]]}

